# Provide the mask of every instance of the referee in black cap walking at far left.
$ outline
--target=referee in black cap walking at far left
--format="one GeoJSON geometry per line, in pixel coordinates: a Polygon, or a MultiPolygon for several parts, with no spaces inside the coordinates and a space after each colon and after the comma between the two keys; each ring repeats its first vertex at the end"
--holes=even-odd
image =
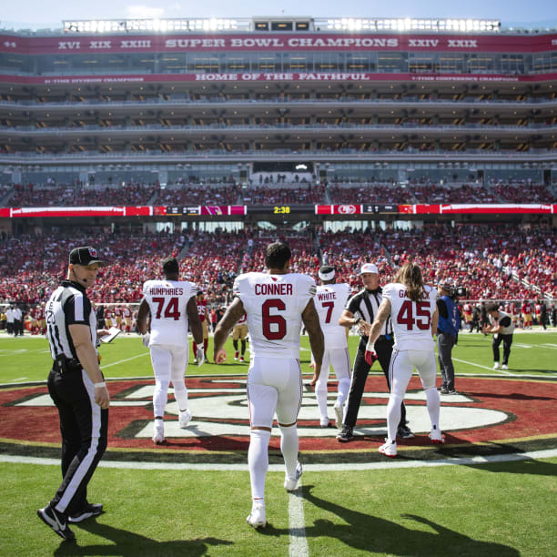
{"type": "Polygon", "coordinates": [[[68,522],[100,514],[102,504],[87,501],[87,483],[106,449],[110,398],[98,367],[95,310],[86,289],[105,263],[94,248],[72,249],[67,279],[46,304],[47,336],[54,360],[48,392],[60,416],[63,481],[39,518],[60,537],[73,541],[68,522]]]}

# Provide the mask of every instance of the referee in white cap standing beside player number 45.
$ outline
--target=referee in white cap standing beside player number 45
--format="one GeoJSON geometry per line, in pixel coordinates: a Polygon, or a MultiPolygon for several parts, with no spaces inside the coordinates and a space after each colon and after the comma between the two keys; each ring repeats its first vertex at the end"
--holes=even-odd
{"type": "MultiPolygon", "coordinates": [[[[377,266],[373,263],[365,263],[361,266],[358,274],[360,275],[364,288],[348,300],[346,309],[344,309],[339,319],[339,325],[348,328],[358,325],[360,332],[360,344],[358,345],[358,353],[356,354],[354,368],[352,370],[348,406],[344,414],[342,430],[340,430],[337,435],[337,439],[341,442],[354,439],[353,430],[356,425],[361,397],[371,367],[365,359],[366,344],[368,343],[371,323],[373,323],[381,300],[383,299],[377,266]]],[[[375,349],[381,369],[385,374],[389,390],[389,366],[393,344],[392,323],[390,322],[390,318],[387,318],[380,330],[380,337],[375,341],[375,349]]],[[[404,401],[400,404],[400,423],[397,436],[402,439],[412,439],[414,437],[414,434],[406,425],[406,408],[404,407],[404,401]]]]}

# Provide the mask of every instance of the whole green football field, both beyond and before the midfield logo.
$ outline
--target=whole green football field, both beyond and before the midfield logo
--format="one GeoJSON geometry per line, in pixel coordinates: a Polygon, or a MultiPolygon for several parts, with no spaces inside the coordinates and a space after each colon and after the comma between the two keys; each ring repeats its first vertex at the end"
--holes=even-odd
{"type": "MultiPolygon", "coordinates": [[[[349,339],[352,356],[357,340],[349,339]]],[[[307,378],[308,347],[303,337],[307,378]]],[[[231,340],[227,349],[227,364],[190,365],[187,373],[246,374],[248,365],[233,359],[231,340]]],[[[108,380],[152,377],[148,350],[138,337],[118,337],[102,345],[100,353],[108,380]]],[[[453,358],[457,374],[554,381],[557,333],[515,334],[505,372],[491,369],[491,337],[461,334],[453,358]]],[[[0,382],[9,389],[46,380],[51,360],[45,339],[0,336],[0,361],[0,382]]],[[[283,489],[283,472],[272,469],[268,526],[257,532],[245,522],[247,464],[173,470],[161,463],[134,469],[103,461],[89,484],[89,500],[103,502],[106,513],[74,525],[75,544],[63,542],[35,514],[60,481],[58,465],[7,460],[0,451],[2,556],[549,556],[557,547],[554,451],[548,458],[522,455],[519,461],[481,464],[410,467],[384,459],[365,470],[354,470],[346,451],[339,457],[346,469],[308,466],[294,494],[283,489]]]]}

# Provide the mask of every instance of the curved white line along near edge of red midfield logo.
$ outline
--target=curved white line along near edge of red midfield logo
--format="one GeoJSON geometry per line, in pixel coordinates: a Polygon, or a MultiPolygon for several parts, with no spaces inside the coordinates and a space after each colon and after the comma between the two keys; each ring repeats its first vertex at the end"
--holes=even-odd
{"type": "MultiPolygon", "coordinates": [[[[461,457],[438,461],[397,461],[385,459],[379,462],[345,462],[338,464],[304,464],[304,472],[308,471],[354,471],[384,470],[395,468],[434,468],[437,466],[470,466],[471,464],[489,464],[491,462],[534,461],[557,457],[557,449],[544,451],[511,452],[492,456],[461,457]]],[[[44,459],[39,457],[11,456],[0,454],[0,462],[15,464],[45,464],[60,466],[60,459],[44,459]]],[[[200,470],[200,471],[246,471],[247,464],[192,464],[188,462],[134,462],[134,461],[100,461],[102,468],[123,468],[131,470],[200,470]]],[[[268,471],[284,473],[284,464],[270,464],[268,471]]],[[[301,485],[301,484],[300,484],[301,485]]]]}

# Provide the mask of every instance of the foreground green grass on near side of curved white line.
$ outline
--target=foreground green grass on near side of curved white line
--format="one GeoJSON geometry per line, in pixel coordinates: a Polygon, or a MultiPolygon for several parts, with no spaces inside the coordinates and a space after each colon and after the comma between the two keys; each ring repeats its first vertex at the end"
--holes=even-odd
{"type": "MultiPolygon", "coordinates": [[[[306,471],[309,555],[552,555],[556,471],[557,459],[306,471]]],[[[289,494],[278,472],[268,473],[268,527],[255,532],[245,522],[248,471],[99,468],[89,500],[106,513],[72,526],[76,544],[35,515],[60,481],[57,467],[2,463],[0,474],[1,555],[289,554],[289,494]]]]}

